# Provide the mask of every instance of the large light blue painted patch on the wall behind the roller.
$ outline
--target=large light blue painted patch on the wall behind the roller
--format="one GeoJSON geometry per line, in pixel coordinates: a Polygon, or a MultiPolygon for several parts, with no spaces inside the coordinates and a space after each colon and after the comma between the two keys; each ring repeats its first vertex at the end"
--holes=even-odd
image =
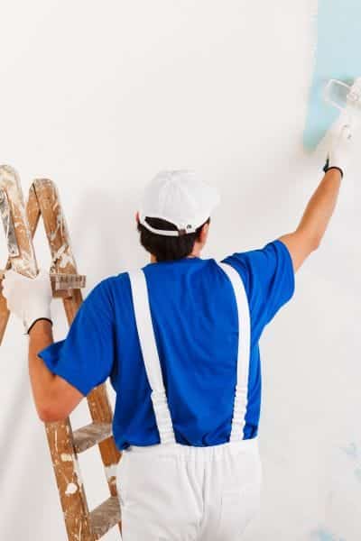
{"type": "Polygon", "coordinates": [[[323,101],[330,78],[352,83],[361,76],[360,0],[319,0],[317,51],[303,144],[313,150],[338,118],[323,101]]]}

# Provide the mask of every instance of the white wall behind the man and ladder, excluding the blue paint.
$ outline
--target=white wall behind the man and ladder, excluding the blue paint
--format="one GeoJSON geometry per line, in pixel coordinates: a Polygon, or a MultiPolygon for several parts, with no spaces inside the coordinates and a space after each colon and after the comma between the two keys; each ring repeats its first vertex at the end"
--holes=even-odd
{"type": "MultiPolygon", "coordinates": [[[[25,193],[36,177],[58,184],[86,293],[148,261],[134,212],[163,168],[198,170],[222,192],[205,257],[295,228],[324,164],[301,147],[315,14],[314,0],[0,3],[0,161],[25,193]]],[[[247,541],[361,535],[356,161],[295,297],[264,331],[263,509],[247,541]]],[[[49,266],[42,226],[35,246],[49,266]]],[[[60,339],[60,302],[52,309],[60,339]]],[[[26,349],[12,318],[0,351],[0,538],[63,541],[26,349]]],[[[90,420],[83,402],[75,428],[90,420]]],[[[97,450],[80,466],[92,509],[107,497],[97,450]]]]}

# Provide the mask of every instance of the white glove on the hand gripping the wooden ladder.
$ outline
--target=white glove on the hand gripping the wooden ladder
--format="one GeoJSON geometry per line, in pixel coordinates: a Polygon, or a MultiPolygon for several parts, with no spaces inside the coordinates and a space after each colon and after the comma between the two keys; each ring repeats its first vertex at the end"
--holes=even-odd
{"type": "Polygon", "coordinates": [[[40,270],[36,278],[28,278],[12,269],[5,271],[3,296],[10,312],[23,320],[25,335],[36,319],[51,321],[52,289],[48,271],[40,270]]]}

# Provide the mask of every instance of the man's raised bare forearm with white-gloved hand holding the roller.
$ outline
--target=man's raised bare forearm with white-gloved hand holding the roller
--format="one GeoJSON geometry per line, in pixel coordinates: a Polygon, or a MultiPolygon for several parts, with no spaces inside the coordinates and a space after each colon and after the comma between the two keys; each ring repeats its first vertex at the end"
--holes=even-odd
{"type": "Polygon", "coordinates": [[[343,125],[332,135],[324,167],[326,174],[310,198],[300,225],[293,233],[284,234],[279,238],[286,244],[291,254],[294,271],[297,271],[310,253],[319,247],[326,232],[337,203],[341,179],[347,169],[352,148],[351,140],[348,125],[343,125]]]}

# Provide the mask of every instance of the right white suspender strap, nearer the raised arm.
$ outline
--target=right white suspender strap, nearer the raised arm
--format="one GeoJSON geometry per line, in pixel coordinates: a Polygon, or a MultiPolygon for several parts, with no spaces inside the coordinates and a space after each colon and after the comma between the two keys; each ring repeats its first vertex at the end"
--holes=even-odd
{"type": "Polygon", "coordinates": [[[232,283],[236,296],[238,312],[238,355],[237,355],[237,378],[236,394],[233,410],[232,429],[229,441],[244,439],[243,429],[245,426],[245,411],[247,407],[248,372],[251,350],[251,322],[249,315],[248,299],[245,286],[239,273],[229,263],[218,261],[218,265],[226,272],[232,283]]]}

